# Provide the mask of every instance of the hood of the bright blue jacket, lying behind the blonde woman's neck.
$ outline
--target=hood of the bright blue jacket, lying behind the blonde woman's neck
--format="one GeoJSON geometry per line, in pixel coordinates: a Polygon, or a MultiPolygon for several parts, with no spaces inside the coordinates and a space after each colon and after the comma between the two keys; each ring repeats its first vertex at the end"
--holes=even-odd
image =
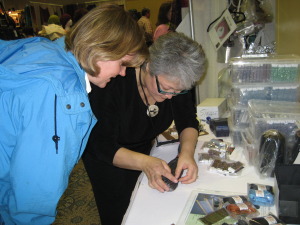
{"type": "Polygon", "coordinates": [[[57,42],[40,37],[0,40],[0,52],[0,79],[6,80],[5,87],[0,85],[2,90],[29,84],[32,78],[50,81],[58,96],[85,89],[85,72],[57,42]]]}

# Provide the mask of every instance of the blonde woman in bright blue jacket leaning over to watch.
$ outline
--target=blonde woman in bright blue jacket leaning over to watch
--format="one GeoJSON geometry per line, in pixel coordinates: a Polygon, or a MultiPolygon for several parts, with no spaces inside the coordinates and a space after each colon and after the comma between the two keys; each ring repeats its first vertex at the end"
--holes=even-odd
{"type": "Polygon", "coordinates": [[[53,223],[96,123],[90,82],[104,88],[147,55],[143,33],[117,5],[94,8],[54,42],[0,40],[0,221],[53,223]]]}

